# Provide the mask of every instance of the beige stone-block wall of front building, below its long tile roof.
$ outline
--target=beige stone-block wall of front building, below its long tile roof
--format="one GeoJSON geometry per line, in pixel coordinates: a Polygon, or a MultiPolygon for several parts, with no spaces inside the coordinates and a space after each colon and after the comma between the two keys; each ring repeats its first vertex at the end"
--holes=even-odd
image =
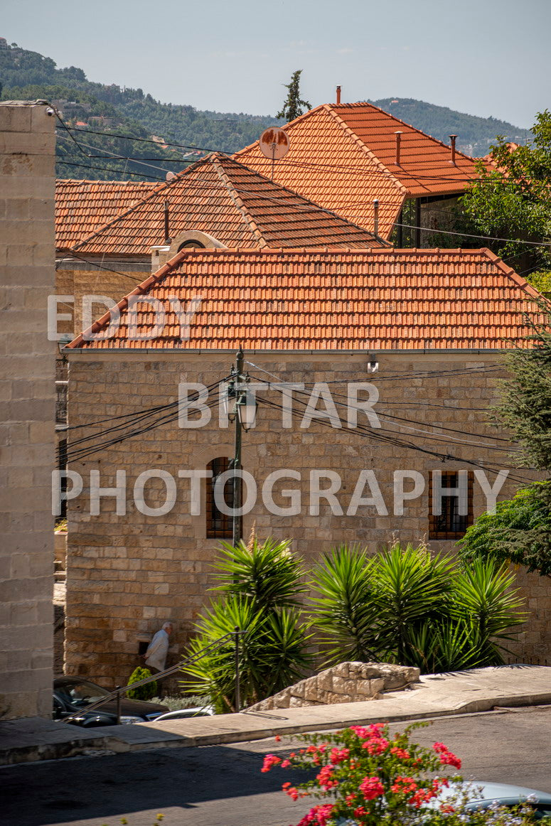
{"type": "MultiPolygon", "coordinates": [[[[178,382],[210,385],[225,377],[234,353],[226,354],[117,354],[101,351],[69,356],[69,419],[79,422],[128,414],[178,398],[178,382]]],[[[302,481],[284,480],[274,488],[274,500],[287,506],[282,489],[302,491],[302,512],[297,516],[272,515],[262,501],[244,517],[244,536],[253,523],[260,538],[273,535],[292,539],[293,548],[310,565],[325,550],[341,542],[359,542],[373,551],[396,535],[404,542],[428,537],[428,476],[431,470],[469,468],[461,460],[475,459],[488,465],[506,463],[506,453],[492,452],[480,444],[498,444],[496,430],[487,423],[486,411],[496,401],[497,354],[379,354],[378,373],[367,373],[366,354],[262,354],[245,358],[287,382],[342,382],[330,384],[332,392],[346,394],[349,381],[373,381],[381,397],[375,410],[383,428],[392,428],[385,415],[416,420],[416,428],[403,430],[401,438],[425,449],[458,457],[433,458],[427,453],[406,450],[393,444],[365,439],[344,430],[328,430],[315,422],[302,429],[282,426],[281,412],[260,406],[258,426],[243,438],[243,466],[259,483],[269,472],[290,468],[302,473],[302,481]],[[425,376],[420,371],[435,371],[425,376]],[[462,371],[441,375],[439,371],[462,371]],[[438,422],[467,431],[462,436],[442,432],[442,442],[425,437],[419,430],[438,422]],[[462,445],[454,439],[474,444],[462,445]],[[313,469],[329,469],[342,477],[339,498],[344,515],[331,513],[322,502],[319,515],[308,512],[308,476],[313,469]],[[346,515],[350,497],[362,469],[373,469],[389,515],[378,515],[360,506],[357,515],[346,515]],[[423,496],[406,502],[404,515],[392,515],[392,473],[419,471],[427,481],[423,496]]],[[[251,373],[269,379],[265,373],[251,373]]],[[[277,392],[266,394],[281,402],[277,392]]],[[[337,396],[335,396],[335,399],[337,396]]],[[[318,405],[322,407],[322,404],[318,405]]],[[[298,407],[298,406],[297,406],[298,407]]],[[[363,419],[365,422],[366,420],[363,419]]],[[[105,426],[105,425],[103,425],[105,426]]],[[[99,430],[99,429],[98,429],[99,430]]],[[[93,430],[87,430],[92,434],[93,430]]],[[[378,434],[373,430],[373,434],[378,434]]],[[[94,439],[100,441],[102,439],[94,439]]],[[[192,631],[197,614],[209,599],[212,563],[218,540],[207,539],[205,485],[202,484],[202,515],[190,515],[189,482],[178,480],[179,469],[206,468],[218,456],[233,455],[233,430],[218,427],[216,411],[211,422],[197,430],[179,429],[176,422],[103,449],[70,468],[83,476],[83,494],[69,501],[69,548],[67,571],[66,669],[90,676],[104,684],[122,683],[139,664],[138,635],[159,629],[164,619],[176,624],[174,643],[180,650],[192,631]],[[176,504],[168,514],[148,516],[136,509],[133,487],[138,475],[150,468],[168,471],[177,481],[176,504]],[[116,514],[113,497],[102,500],[99,515],[90,515],[90,471],[100,471],[102,487],[115,485],[116,470],[126,471],[126,514],[116,514]]],[[[492,474],[488,474],[493,478],[492,474]]],[[[326,487],[327,481],[321,483],[326,487]]],[[[411,487],[409,483],[408,487],[411,487]]],[[[509,497],[515,482],[506,482],[501,497],[509,497]]],[[[474,483],[474,514],[485,510],[482,491],[474,483]]],[[[366,492],[364,496],[368,496],[366,492]]],[[[146,488],[150,506],[164,502],[165,489],[159,480],[146,488]]],[[[454,550],[454,541],[430,542],[433,548],[454,550]]],[[[527,583],[549,587],[541,581],[527,583]]],[[[542,605],[541,601],[539,605],[542,605]]],[[[549,612],[548,612],[549,613],[549,612]]],[[[548,634],[545,611],[540,609],[525,634],[525,656],[535,653],[534,644],[548,634]]],[[[547,636],[549,642],[549,635],[547,636]]],[[[548,643],[546,643],[548,644],[548,643]]],[[[175,656],[175,653],[173,653],[175,656]]]]}

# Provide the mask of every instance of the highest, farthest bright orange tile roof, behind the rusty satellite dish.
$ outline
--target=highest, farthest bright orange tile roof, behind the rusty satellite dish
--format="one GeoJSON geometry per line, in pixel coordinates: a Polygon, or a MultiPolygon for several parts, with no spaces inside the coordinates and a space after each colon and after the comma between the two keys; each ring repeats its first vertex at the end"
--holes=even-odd
{"type": "MultiPolygon", "coordinates": [[[[276,161],[274,180],[372,231],[378,198],[383,238],[405,198],[463,192],[477,177],[475,159],[456,150],[452,164],[449,146],[371,103],[323,104],[283,129],[291,148],[276,161]]],[[[258,142],[235,157],[261,173],[271,169],[258,142]]]]}

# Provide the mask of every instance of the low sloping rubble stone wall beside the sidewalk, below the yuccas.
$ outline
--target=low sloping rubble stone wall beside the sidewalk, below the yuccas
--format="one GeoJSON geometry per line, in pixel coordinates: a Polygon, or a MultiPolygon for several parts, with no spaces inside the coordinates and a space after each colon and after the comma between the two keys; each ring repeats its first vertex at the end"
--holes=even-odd
{"type": "Polygon", "coordinates": [[[249,706],[248,711],[378,700],[387,691],[402,691],[418,681],[419,668],[395,666],[390,662],[341,662],[260,700],[249,706]]]}

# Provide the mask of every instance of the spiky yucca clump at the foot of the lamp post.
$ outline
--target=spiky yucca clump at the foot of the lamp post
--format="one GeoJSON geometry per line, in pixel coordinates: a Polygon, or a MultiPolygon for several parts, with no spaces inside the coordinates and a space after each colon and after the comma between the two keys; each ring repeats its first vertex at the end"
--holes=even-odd
{"type": "MultiPolygon", "coordinates": [[[[242,705],[264,700],[292,685],[311,666],[307,647],[311,632],[300,621],[302,565],[290,542],[266,539],[237,547],[223,543],[216,562],[216,585],[222,596],[197,620],[197,636],[188,648],[198,654],[239,627],[242,705]]],[[[186,690],[211,696],[219,712],[235,710],[235,643],[209,653],[185,668],[194,680],[186,690]]]]}

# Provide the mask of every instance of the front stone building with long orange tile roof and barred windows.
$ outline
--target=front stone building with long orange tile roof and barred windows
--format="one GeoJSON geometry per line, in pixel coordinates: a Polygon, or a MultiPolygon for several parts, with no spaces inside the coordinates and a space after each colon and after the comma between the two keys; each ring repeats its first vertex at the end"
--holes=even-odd
{"type": "MultiPolygon", "coordinates": [[[[70,418],[82,425],[69,444],[68,672],[122,683],[142,635],[168,617],[182,651],[216,546],[231,536],[216,486],[234,435],[216,392],[240,346],[259,385],[256,426],[243,434],[245,537],[255,525],[291,538],[307,563],[337,543],[375,550],[393,535],[453,551],[487,509],[488,485],[502,498],[530,479],[511,468],[498,477],[510,444],[487,409],[504,341],[525,335],[537,296],[488,250],[170,259],[119,302],[119,324],[106,314],[66,349],[70,418]],[[165,310],[156,330],[151,299],[165,310]],[[195,301],[184,324],[175,299],[195,301]],[[292,411],[279,382],[297,385],[292,411]],[[197,385],[209,396],[188,414],[197,385]]],[[[525,586],[547,598],[538,577],[525,586]]],[[[550,632],[536,611],[520,655],[550,632]]]]}

